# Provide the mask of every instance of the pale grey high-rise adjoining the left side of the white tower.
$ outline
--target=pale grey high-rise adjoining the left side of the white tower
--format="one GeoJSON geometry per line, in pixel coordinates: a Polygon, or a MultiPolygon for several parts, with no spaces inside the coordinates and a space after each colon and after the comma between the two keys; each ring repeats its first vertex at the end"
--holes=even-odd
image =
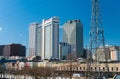
{"type": "Polygon", "coordinates": [[[29,26],[29,56],[41,56],[42,26],[31,23],[29,26]]]}

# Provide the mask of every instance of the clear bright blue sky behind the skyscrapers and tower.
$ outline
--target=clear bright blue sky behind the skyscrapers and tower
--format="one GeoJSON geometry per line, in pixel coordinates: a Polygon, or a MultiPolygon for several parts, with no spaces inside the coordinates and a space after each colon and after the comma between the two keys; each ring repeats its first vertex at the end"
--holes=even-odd
{"type": "MultiPolygon", "coordinates": [[[[105,42],[120,46],[120,0],[100,1],[105,42]]],[[[28,47],[29,24],[52,16],[60,17],[60,26],[67,20],[80,19],[84,46],[88,45],[91,0],[0,0],[0,45],[20,43],[28,47]]]]}

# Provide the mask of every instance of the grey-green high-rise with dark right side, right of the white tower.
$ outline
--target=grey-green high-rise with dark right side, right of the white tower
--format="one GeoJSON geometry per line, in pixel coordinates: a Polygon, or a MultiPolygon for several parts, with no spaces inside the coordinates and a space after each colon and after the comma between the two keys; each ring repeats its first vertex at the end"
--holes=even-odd
{"type": "Polygon", "coordinates": [[[76,58],[83,57],[83,25],[80,20],[69,20],[63,25],[63,42],[71,45],[76,58]]]}

